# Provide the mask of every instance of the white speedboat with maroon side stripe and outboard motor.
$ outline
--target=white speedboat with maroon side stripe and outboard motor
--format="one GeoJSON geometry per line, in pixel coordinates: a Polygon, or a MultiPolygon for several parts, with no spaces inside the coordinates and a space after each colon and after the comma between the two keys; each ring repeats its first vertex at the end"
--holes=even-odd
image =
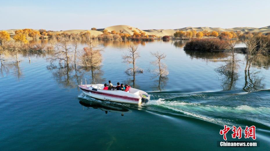
{"type": "Polygon", "coordinates": [[[150,95],[145,91],[132,87],[127,92],[121,90],[103,90],[104,84],[84,84],[79,85],[79,87],[84,94],[98,100],[138,105],[147,103],[150,100],[150,95]]]}

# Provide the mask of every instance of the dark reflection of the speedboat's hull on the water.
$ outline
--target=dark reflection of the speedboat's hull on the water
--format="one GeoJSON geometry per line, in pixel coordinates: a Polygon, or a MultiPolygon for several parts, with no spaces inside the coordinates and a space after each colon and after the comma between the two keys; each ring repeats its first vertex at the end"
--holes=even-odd
{"type": "Polygon", "coordinates": [[[105,111],[105,114],[109,112],[116,112],[116,113],[121,113],[121,116],[124,116],[124,113],[131,112],[130,110],[120,107],[120,106],[111,106],[108,104],[103,104],[103,103],[98,103],[98,102],[93,102],[93,101],[88,101],[88,100],[80,100],[79,103],[82,105],[83,110],[88,110],[91,108],[94,109],[100,109],[102,111],[105,111]],[[84,107],[87,107],[85,109],[84,107]]]}

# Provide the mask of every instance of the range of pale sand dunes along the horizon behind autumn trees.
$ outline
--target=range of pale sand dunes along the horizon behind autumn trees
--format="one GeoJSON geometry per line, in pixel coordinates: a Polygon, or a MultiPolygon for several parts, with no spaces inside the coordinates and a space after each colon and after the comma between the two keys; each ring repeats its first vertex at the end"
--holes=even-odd
{"type": "MultiPolygon", "coordinates": [[[[136,28],[136,27],[132,27],[132,26],[129,26],[129,25],[116,25],[116,26],[110,26],[110,27],[106,27],[105,28],[106,30],[108,30],[108,32],[111,32],[113,30],[115,30],[116,32],[123,32],[123,33],[128,33],[130,35],[133,35],[133,30],[136,30],[137,32],[140,32],[140,31],[144,31],[146,34],[148,35],[156,35],[156,36],[171,36],[173,35],[177,30],[183,30],[183,31],[190,31],[190,30],[196,30],[197,32],[198,31],[202,31],[202,30],[208,30],[209,32],[212,32],[212,31],[221,31],[221,32],[224,32],[224,31],[228,31],[228,32],[231,32],[231,31],[240,31],[241,33],[244,33],[244,32],[262,32],[263,34],[266,34],[266,33],[270,33],[270,26],[266,26],[266,27],[261,27],[261,28],[255,28],[255,27],[234,27],[234,28],[227,28],[227,29],[224,29],[224,28],[219,28],[219,27],[185,27],[185,28],[179,28],[179,29],[167,29],[167,30],[163,30],[163,29],[159,29],[159,30],[155,30],[155,29],[152,29],[152,30],[141,30],[139,28],[136,28]]],[[[68,34],[71,34],[71,33],[74,33],[74,34],[79,34],[80,32],[91,32],[91,35],[93,36],[98,36],[100,34],[102,34],[102,30],[103,29],[100,29],[99,31],[96,31],[96,30],[65,30],[65,31],[55,31],[55,32],[50,32],[52,34],[60,34],[60,33],[63,33],[63,32],[66,32],[68,34]]],[[[15,29],[10,29],[10,30],[6,30],[8,33],[10,33],[11,35],[14,35],[15,34],[15,29]]]]}

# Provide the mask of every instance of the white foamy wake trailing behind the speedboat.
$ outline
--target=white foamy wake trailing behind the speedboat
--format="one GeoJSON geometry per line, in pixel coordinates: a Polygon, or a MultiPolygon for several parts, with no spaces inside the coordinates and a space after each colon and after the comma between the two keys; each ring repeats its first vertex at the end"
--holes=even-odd
{"type": "Polygon", "coordinates": [[[140,107],[108,101],[103,102],[83,94],[79,97],[159,114],[188,116],[220,125],[255,125],[257,128],[270,129],[269,90],[252,93],[221,91],[191,94],[152,93],[151,95],[152,100],[140,107]]]}

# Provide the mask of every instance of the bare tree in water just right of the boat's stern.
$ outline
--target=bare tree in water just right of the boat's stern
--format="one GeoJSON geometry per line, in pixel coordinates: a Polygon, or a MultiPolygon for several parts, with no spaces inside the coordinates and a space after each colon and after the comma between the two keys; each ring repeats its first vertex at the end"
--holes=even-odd
{"type": "Polygon", "coordinates": [[[151,52],[151,54],[152,56],[156,57],[156,60],[152,62],[154,65],[158,66],[158,69],[154,70],[154,74],[156,75],[154,78],[159,77],[158,87],[161,91],[161,82],[164,83],[166,80],[168,80],[167,75],[169,74],[167,66],[161,62],[161,60],[166,58],[166,55],[158,51],[155,53],[151,52]]]}

